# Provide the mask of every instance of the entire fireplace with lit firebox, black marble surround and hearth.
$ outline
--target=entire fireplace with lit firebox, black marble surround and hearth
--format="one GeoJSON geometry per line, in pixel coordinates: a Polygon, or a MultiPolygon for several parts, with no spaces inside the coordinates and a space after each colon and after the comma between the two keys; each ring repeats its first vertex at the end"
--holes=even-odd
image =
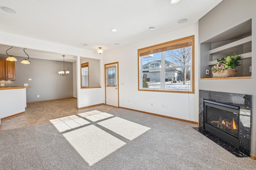
{"type": "Polygon", "coordinates": [[[198,131],[238,157],[250,156],[252,95],[199,91],[198,131]]]}

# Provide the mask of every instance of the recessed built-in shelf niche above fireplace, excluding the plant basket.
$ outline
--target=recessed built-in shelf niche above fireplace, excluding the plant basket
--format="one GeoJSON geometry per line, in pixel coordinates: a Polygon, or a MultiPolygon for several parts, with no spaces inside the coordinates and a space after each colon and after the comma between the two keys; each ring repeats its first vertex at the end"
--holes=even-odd
{"type": "Polygon", "coordinates": [[[252,67],[254,67],[252,65],[252,19],[200,43],[201,80],[250,79],[252,67]],[[232,56],[234,53],[242,57],[240,65],[236,68],[237,77],[213,78],[211,69],[218,63],[217,59],[225,58],[227,55],[232,56]]]}

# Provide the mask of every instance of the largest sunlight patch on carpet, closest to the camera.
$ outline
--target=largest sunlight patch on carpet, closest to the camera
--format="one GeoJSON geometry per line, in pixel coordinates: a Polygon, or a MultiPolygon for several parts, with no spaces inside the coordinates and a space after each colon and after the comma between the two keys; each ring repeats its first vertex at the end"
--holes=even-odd
{"type": "Polygon", "coordinates": [[[66,132],[63,136],[89,166],[92,166],[126,144],[94,125],[66,132]]]}

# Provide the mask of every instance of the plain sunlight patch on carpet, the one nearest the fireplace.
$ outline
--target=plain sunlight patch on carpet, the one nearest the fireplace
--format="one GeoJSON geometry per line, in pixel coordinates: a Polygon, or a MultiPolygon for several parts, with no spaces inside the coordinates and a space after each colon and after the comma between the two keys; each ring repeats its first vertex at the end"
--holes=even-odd
{"type": "Polygon", "coordinates": [[[150,129],[149,127],[127,121],[120,117],[113,117],[111,119],[101,121],[98,124],[129,140],[135,139],[136,137],[140,136],[141,134],[150,129]]]}

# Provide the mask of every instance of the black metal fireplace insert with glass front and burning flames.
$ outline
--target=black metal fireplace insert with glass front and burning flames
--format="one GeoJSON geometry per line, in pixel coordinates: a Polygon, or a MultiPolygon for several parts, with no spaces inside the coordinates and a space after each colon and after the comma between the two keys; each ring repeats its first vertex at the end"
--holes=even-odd
{"type": "Polygon", "coordinates": [[[204,100],[204,130],[239,148],[240,107],[204,100]]]}

